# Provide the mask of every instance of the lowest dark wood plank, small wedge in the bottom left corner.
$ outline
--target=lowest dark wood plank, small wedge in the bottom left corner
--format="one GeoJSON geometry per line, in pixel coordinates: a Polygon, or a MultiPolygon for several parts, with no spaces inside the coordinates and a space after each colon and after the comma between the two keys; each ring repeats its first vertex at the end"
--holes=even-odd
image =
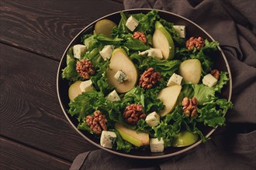
{"type": "Polygon", "coordinates": [[[66,162],[33,148],[0,138],[0,169],[68,169],[66,162]]]}

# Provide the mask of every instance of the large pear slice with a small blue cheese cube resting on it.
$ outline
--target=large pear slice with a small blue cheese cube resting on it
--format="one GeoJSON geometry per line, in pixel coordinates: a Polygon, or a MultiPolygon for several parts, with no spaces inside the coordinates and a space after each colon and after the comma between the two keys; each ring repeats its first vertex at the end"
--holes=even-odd
{"type": "Polygon", "coordinates": [[[115,87],[118,93],[126,93],[135,86],[138,78],[137,68],[124,49],[119,48],[113,50],[106,76],[109,80],[109,84],[115,87]],[[122,72],[129,77],[129,80],[119,83],[115,78],[119,70],[122,70],[122,72]]]}

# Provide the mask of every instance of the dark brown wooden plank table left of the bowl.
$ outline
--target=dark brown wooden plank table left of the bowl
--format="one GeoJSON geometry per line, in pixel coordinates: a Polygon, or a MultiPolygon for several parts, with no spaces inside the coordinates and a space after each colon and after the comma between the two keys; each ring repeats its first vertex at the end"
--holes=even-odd
{"type": "Polygon", "coordinates": [[[57,100],[57,66],[90,22],[121,0],[0,0],[0,169],[68,169],[97,149],[68,124],[57,100]]]}

